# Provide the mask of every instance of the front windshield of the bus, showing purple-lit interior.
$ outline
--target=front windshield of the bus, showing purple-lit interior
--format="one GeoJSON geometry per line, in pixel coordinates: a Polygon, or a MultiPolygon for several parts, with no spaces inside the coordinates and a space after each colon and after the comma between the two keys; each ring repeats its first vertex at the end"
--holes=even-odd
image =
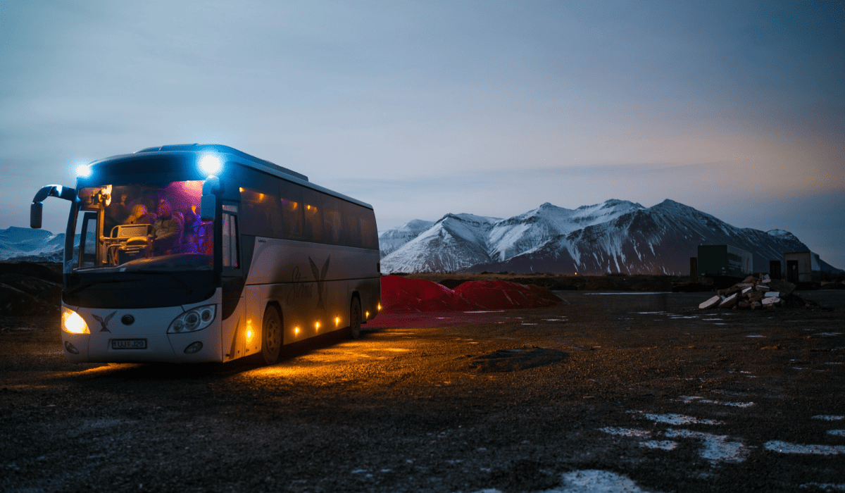
{"type": "Polygon", "coordinates": [[[79,189],[74,256],[65,271],[197,271],[214,266],[213,222],[199,216],[203,182],[79,189]]]}

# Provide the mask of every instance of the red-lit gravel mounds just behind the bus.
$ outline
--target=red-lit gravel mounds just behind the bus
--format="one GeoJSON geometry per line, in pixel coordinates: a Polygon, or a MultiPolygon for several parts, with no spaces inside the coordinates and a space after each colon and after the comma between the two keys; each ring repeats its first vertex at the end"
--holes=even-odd
{"type": "Polygon", "coordinates": [[[381,278],[384,313],[540,308],[559,301],[543,288],[515,282],[470,281],[453,291],[437,282],[421,279],[401,276],[381,278]]]}

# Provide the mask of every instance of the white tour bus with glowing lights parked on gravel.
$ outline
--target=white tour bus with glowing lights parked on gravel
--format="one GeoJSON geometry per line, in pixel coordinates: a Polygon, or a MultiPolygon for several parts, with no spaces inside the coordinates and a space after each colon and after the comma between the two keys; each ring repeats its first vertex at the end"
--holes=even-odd
{"type": "MultiPolygon", "coordinates": [[[[381,309],[373,207],[226,145],[163,145],[77,170],[62,339],[72,362],[225,362],[381,309]]],[[[259,356],[255,356],[260,359],[259,356]]]]}

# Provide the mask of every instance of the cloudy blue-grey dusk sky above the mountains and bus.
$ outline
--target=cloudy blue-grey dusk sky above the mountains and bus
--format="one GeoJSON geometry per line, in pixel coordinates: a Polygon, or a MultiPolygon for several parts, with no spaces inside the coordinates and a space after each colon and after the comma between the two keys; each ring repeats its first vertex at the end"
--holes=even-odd
{"type": "Polygon", "coordinates": [[[0,75],[0,227],[80,163],[199,142],[382,230],[672,199],[845,268],[845,2],[7,1],[0,75]]]}

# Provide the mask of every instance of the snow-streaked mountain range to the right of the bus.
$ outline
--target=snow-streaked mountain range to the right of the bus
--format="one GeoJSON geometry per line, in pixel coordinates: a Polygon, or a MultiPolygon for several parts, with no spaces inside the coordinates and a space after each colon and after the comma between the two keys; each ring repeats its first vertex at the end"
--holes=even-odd
{"type": "MultiPolygon", "coordinates": [[[[387,232],[385,232],[387,233],[387,232]]],[[[646,208],[608,200],[575,210],[543,204],[510,219],[447,215],[382,260],[382,271],[578,272],[685,275],[700,244],[730,244],[769,270],[783,252],[809,248],[792,233],[733,227],[673,200],[646,208]],[[482,219],[455,235],[462,217],[482,219]],[[486,232],[486,233],[485,233],[486,232]],[[425,239],[428,238],[428,239],[425,239]]],[[[823,270],[836,270],[822,262],[823,270]]]]}

